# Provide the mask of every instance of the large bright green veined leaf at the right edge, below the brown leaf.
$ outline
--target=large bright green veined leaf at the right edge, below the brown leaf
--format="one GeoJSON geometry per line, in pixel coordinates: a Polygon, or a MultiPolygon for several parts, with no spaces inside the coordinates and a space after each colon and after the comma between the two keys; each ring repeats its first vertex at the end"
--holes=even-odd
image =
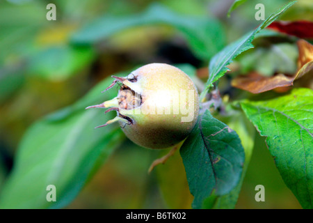
{"type": "Polygon", "coordinates": [[[274,157],[284,183],[303,208],[313,208],[313,91],[294,89],[272,100],[241,107],[274,157]]]}

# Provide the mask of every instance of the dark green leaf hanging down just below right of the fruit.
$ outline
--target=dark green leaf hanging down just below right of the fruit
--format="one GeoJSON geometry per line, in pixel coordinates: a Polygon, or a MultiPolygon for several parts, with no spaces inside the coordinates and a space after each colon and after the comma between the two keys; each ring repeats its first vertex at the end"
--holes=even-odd
{"type": "Polygon", "coordinates": [[[229,193],[239,183],[245,154],[241,141],[209,111],[198,118],[193,132],[184,141],[180,154],[189,190],[195,197],[193,208],[202,208],[204,199],[229,193]]]}

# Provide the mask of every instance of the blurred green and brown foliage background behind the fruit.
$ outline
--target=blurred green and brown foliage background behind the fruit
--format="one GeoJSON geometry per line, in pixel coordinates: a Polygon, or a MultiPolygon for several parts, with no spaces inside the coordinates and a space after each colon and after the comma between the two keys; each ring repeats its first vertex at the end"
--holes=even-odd
{"type": "MultiPolygon", "coordinates": [[[[178,153],[147,175],[150,163],[165,152],[124,140],[117,126],[94,130],[111,114],[84,108],[117,93],[100,93],[111,82],[106,77],[124,76],[142,64],[184,64],[182,69],[195,77],[220,49],[260,23],[257,0],[246,1],[227,18],[232,2],[1,1],[0,207],[190,208],[193,198],[178,153]],[[56,21],[46,20],[48,3],[56,4],[56,21]],[[56,205],[45,201],[49,180],[59,188],[56,205]]],[[[266,17],[287,2],[262,1],[266,17]]],[[[299,0],[281,19],[313,20],[312,1],[299,0]]],[[[296,69],[291,40],[272,43],[270,35],[264,44],[259,38],[255,49],[236,60],[242,66],[238,72],[296,69]]],[[[230,90],[227,78],[220,82],[230,100],[250,96],[230,90]]],[[[300,208],[260,138],[245,167],[236,208],[300,208]],[[254,200],[257,184],[266,187],[264,203],[254,200]]]]}

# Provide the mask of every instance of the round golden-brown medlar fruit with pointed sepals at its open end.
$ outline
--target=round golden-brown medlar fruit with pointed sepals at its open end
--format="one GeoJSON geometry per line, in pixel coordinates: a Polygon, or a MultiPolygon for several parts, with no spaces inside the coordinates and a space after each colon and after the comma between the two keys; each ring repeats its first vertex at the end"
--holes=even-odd
{"type": "Polygon", "coordinates": [[[166,63],[150,63],[125,78],[115,77],[107,89],[117,81],[122,82],[122,87],[116,98],[90,106],[111,107],[106,112],[118,113],[99,127],[118,121],[131,141],[153,149],[175,146],[193,130],[199,113],[199,95],[182,70],[166,63]]]}

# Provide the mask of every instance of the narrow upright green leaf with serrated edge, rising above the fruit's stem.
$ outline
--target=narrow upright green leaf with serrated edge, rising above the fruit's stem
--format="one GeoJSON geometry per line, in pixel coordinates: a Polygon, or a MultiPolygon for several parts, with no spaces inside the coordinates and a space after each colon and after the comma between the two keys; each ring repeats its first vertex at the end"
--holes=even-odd
{"type": "Polygon", "coordinates": [[[257,29],[254,31],[247,33],[245,36],[241,37],[239,40],[236,40],[234,43],[227,45],[222,51],[218,52],[209,63],[209,78],[207,79],[207,83],[205,85],[204,91],[202,91],[200,95],[200,100],[204,99],[204,96],[207,94],[213,83],[216,82],[220,77],[223,77],[227,70],[227,66],[232,63],[232,60],[245,52],[248,49],[253,47],[252,40],[255,38],[255,34],[259,32],[261,29],[266,28],[269,24],[271,24],[274,20],[276,20],[282,13],[284,13],[287,8],[292,6],[295,1],[287,3],[285,6],[280,8],[278,11],[270,15],[262,24],[260,24],[257,29]]]}

